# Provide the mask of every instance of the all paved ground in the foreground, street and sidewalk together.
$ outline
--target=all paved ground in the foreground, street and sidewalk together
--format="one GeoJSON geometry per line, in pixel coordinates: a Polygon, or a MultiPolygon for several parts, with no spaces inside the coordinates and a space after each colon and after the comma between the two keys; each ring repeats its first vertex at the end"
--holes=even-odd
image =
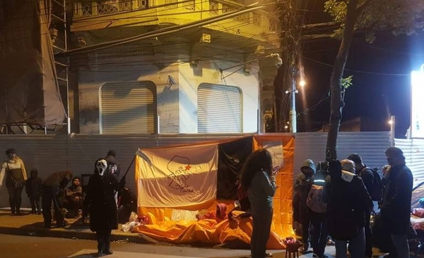
{"type": "MultiPolygon", "coordinates": [[[[0,209],[0,257],[7,258],[65,258],[93,257],[97,242],[87,227],[78,226],[70,221],[66,228],[46,230],[42,228],[42,216],[28,214],[10,216],[8,209],[0,209]]],[[[211,247],[188,247],[167,243],[146,244],[136,233],[112,231],[112,250],[108,258],[249,258],[249,250],[229,250],[211,247]],[[136,242],[136,243],[135,243],[136,242]]],[[[285,250],[271,250],[275,258],[285,258],[285,250]]],[[[335,257],[334,246],[326,247],[329,258],[335,257]]],[[[375,250],[375,257],[383,254],[375,250]]],[[[418,257],[424,257],[419,255],[418,257]]],[[[300,255],[300,258],[312,258],[312,252],[300,255]]]]}

